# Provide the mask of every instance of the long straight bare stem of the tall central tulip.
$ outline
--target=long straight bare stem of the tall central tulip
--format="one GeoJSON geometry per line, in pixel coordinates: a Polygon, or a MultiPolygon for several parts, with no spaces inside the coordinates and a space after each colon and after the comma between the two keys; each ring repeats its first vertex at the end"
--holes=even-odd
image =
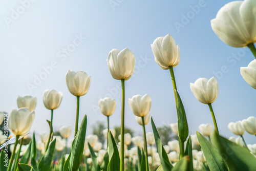
{"type": "Polygon", "coordinates": [[[124,79],[122,83],[122,112],[121,112],[121,156],[120,156],[120,171],[124,171],[124,79]]]}

